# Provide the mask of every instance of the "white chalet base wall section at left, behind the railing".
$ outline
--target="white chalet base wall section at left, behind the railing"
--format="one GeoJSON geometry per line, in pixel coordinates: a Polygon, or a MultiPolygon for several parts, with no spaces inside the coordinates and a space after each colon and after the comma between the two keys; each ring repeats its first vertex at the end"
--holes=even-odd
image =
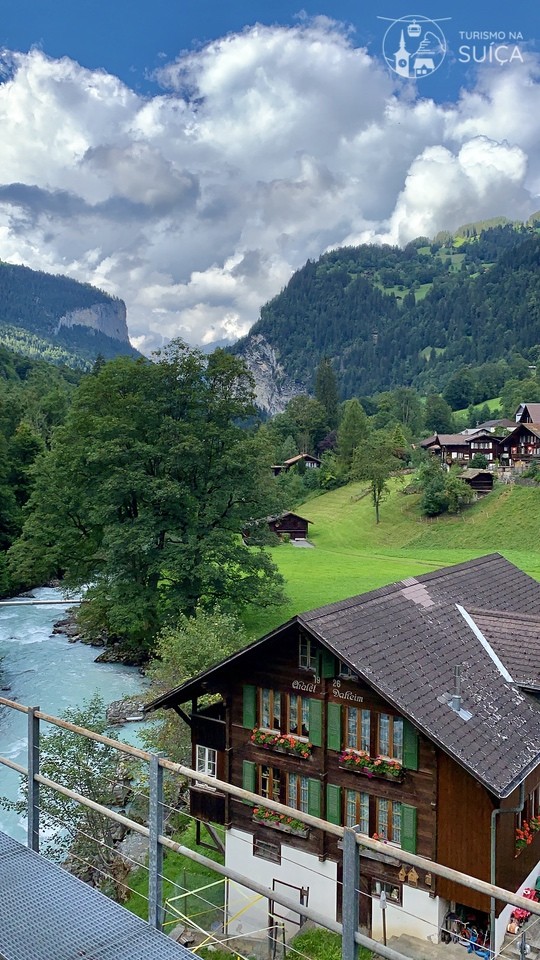
{"type": "MultiPolygon", "coordinates": [[[[313,854],[304,853],[281,842],[281,863],[271,863],[253,856],[253,837],[242,830],[229,830],[226,837],[225,865],[245,874],[257,883],[272,889],[272,881],[281,880],[296,887],[309,888],[308,906],[331,920],[336,919],[337,864],[331,860],[321,863],[313,854]]],[[[297,899],[295,890],[280,887],[280,892],[291,900],[297,899]]],[[[285,917],[288,911],[277,906],[285,917]]],[[[290,914],[298,920],[298,914],[290,914]]],[[[265,937],[268,927],[268,901],[247,887],[229,884],[229,933],[242,936],[265,937]]],[[[298,926],[287,924],[287,935],[298,931],[298,926]]]]}

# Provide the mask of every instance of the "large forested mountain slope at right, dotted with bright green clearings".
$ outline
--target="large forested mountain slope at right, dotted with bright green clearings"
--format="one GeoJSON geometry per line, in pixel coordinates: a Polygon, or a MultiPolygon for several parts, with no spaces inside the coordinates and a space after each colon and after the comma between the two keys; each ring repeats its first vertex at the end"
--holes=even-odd
{"type": "MultiPolygon", "coordinates": [[[[342,398],[396,386],[440,391],[465,365],[540,353],[537,222],[419,238],[404,249],[344,247],[308,261],[261,310],[235,351],[275,351],[312,391],[332,360],[342,398]],[[535,348],[538,348],[536,350],[535,348]]],[[[251,365],[251,362],[250,362],[251,365]]]]}

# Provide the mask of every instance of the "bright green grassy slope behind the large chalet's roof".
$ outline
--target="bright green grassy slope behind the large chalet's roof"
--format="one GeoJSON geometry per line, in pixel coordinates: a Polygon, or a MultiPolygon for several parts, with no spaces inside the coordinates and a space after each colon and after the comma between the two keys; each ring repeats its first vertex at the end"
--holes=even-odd
{"type": "Polygon", "coordinates": [[[252,612],[247,626],[258,636],[302,610],[495,551],[540,580],[539,507],[540,489],[500,486],[461,516],[427,520],[396,481],[377,526],[362,484],[327,493],[298,507],[315,548],[272,551],[290,602],[252,612]]]}

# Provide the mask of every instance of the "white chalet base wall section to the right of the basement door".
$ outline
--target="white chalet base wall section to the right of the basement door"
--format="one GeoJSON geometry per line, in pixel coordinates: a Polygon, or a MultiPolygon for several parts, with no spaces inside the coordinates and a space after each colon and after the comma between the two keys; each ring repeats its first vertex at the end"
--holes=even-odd
{"type": "MultiPolygon", "coordinates": [[[[403,905],[397,906],[387,900],[386,938],[408,934],[419,940],[439,942],[439,932],[448,909],[446,900],[430,897],[425,890],[403,885],[403,905]]],[[[372,901],[373,939],[382,940],[382,910],[380,901],[372,901]]]]}

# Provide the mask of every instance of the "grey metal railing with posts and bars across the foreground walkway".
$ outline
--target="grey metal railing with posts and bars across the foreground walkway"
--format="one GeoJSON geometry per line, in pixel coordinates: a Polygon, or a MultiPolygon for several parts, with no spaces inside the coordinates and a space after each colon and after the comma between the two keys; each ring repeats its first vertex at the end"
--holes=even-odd
{"type": "MultiPolygon", "coordinates": [[[[318,926],[325,927],[326,929],[339,934],[342,937],[343,943],[343,960],[355,960],[357,957],[358,946],[363,946],[374,951],[377,956],[383,957],[385,960],[408,960],[408,958],[404,957],[403,954],[398,953],[390,947],[385,946],[378,941],[372,940],[371,938],[366,937],[358,932],[360,853],[362,850],[371,851],[372,854],[378,855],[378,857],[380,857],[382,860],[388,855],[388,846],[386,844],[378,840],[373,840],[364,834],[360,835],[354,828],[337,826],[336,824],[329,823],[326,820],[321,820],[319,817],[314,817],[310,814],[303,813],[300,810],[285,806],[285,804],[281,804],[270,799],[264,799],[264,801],[262,801],[260,796],[252,793],[249,790],[244,790],[243,788],[236,787],[233,784],[226,783],[222,780],[217,780],[215,777],[192,770],[190,767],[186,767],[183,764],[174,763],[173,761],[157,754],[149,753],[146,750],[141,750],[140,748],[133,747],[130,744],[122,743],[120,741],[113,740],[110,737],[95,733],[92,730],[87,730],[84,727],[79,727],[76,724],[70,723],[68,720],[63,720],[59,717],[54,717],[50,714],[43,713],[39,707],[23,706],[22,704],[8,700],[4,697],[0,697],[0,705],[12,710],[20,711],[21,713],[26,713],[28,716],[28,767],[24,767],[6,757],[0,757],[1,764],[9,767],[12,770],[15,770],[21,776],[28,778],[28,846],[32,850],[39,852],[40,786],[45,786],[55,790],[63,796],[81,803],[95,812],[110,818],[118,824],[121,824],[127,830],[141,834],[143,837],[148,838],[148,922],[151,926],[161,929],[163,925],[163,853],[164,850],[171,850],[183,857],[186,857],[188,860],[212,870],[214,873],[232,880],[234,883],[248,888],[256,894],[265,897],[269,902],[277,903],[292,913],[300,915],[306,920],[312,920],[318,926]],[[60,729],[68,730],[71,733],[79,734],[82,737],[95,740],[100,744],[119,751],[119,753],[126,754],[134,759],[147,763],[150,784],[148,826],[138,823],[124,814],[118,813],[115,810],[111,810],[109,807],[103,804],[96,803],[90,798],[68,789],[67,787],[63,786],[63,784],[43,776],[40,773],[39,749],[41,721],[52,724],[60,729]],[[341,841],[343,851],[342,923],[331,920],[327,915],[321,914],[317,910],[304,906],[297,900],[291,900],[280,891],[265,887],[263,884],[257,883],[252,878],[246,877],[230,867],[225,867],[220,863],[216,863],[209,857],[205,857],[204,855],[191,850],[189,847],[177,843],[170,837],[165,836],[163,834],[163,809],[165,805],[163,798],[163,773],[165,770],[180,777],[197,780],[198,783],[204,783],[213,789],[218,788],[237,800],[247,801],[258,806],[261,806],[263,803],[264,806],[270,810],[273,810],[277,813],[282,813],[285,816],[294,817],[296,820],[300,820],[305,823],[306,826],[313,827],[317,830],[322,830],[341,841]]],[[[378,859],[378,857],[376,858],[378,859]]],[[[486,881],[478,880],[476,877],[471,877],[459,870],[454,870],[453,868],[447,867],[444,864],[427,860],[424,857],[418,856],[417,854],[408,853],[405,850],[399,850],[399,859],[400,861],[403,861],[412,867],[418,868],[421,871],[429,872],[438,877],[443,877],[444,879],[454,883],[459,883],[462,886],[484,894],[489,898],[494,897],[504,903],[511,904],[514,907],[520,907],[529,911],[530,913],[540,916],[540,903],[521,897],[510,890],[505,890],[502,887],[495,886],[494,884],[487,883],[486,881]]]]}

